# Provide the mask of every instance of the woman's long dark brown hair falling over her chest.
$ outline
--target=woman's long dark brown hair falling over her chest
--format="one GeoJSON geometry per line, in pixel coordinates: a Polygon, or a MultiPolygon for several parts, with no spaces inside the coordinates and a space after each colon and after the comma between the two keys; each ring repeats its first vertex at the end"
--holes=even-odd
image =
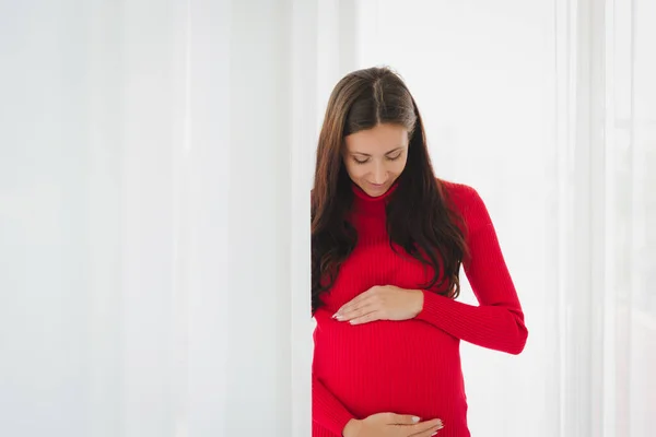
{"type": "Polygon", "coordinates": [[[313,315],[358,241],[347,218],[353,191],[343,163],[344,137],[379,123],[402,126],[410,135],[406,167],[386,206],[389,243],[434,269],[433,279],[422,288],[440,288],[453,298],[460,293],[458,274],[468,256],[465,223],[433,174],[423,122],[410,91],[390,69],[370,68],[349,73],[335,86],[319,134],[312,192],[313,315]]]}

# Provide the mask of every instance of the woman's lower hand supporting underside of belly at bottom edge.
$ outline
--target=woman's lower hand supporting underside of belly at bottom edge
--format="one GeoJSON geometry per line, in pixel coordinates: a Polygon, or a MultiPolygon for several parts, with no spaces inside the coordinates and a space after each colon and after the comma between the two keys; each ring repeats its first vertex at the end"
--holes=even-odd
{"type": "Polygon", "coordinates": [[[343,437],[431,437],[444,425],[440,418],[419,422],[419,417],[377,413],[359,420],[351,420],[342,432],[343,437]]]}

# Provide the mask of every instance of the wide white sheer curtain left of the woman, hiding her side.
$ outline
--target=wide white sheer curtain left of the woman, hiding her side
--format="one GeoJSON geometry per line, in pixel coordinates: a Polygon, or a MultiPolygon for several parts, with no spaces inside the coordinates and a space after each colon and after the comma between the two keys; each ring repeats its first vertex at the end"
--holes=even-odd
{"type": "Polygon", "coordinates": [[[309,435],[318,8],[0,3],[0,435],[309,435]]]}

